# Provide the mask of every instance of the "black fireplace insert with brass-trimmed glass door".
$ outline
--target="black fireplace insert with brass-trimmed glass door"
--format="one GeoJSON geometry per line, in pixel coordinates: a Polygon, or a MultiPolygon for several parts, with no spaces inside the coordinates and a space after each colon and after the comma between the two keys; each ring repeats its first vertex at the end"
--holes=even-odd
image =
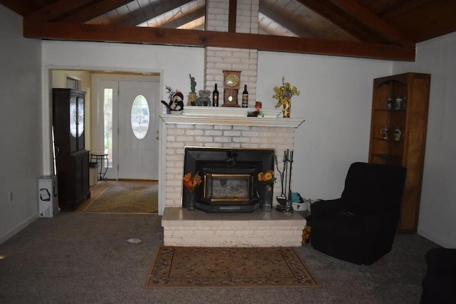
{"type": "Polygon", "coordinates": [[[202,187],[195,191],[195,206],[209,213],[259,209],[257,176],[271,169],[271,149],[185,148],[184,172],[199,172],[203,177],[202,187]]]}

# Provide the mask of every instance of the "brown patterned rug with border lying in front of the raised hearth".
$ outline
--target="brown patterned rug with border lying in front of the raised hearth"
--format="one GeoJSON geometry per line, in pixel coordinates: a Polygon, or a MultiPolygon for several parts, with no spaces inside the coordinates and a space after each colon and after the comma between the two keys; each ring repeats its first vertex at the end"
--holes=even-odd
{"type": "Polygon", "coordinates": [[[148,288],[315,287],[293,248],[161,246],[148,288]]]}

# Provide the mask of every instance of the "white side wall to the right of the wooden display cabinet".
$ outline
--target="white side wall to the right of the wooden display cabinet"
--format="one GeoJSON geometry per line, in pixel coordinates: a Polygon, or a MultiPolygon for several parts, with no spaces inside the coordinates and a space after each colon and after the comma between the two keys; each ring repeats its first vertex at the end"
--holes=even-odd
{"type": "Polygon", "coordinates": [[[415,63],[394,73],[430,73],[425,170],[418,234],[456,248],[456,33],[418,43],[415,63]]]}

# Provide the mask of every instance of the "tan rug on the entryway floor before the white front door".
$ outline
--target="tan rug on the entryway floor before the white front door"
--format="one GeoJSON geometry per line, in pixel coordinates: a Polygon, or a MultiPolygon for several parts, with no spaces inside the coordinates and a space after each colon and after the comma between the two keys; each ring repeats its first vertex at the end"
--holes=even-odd
{"type": "Polygon", "coordinates": [[[154,213],[158,211],[158,187],[108,187],[84,211],[154,213]]]}

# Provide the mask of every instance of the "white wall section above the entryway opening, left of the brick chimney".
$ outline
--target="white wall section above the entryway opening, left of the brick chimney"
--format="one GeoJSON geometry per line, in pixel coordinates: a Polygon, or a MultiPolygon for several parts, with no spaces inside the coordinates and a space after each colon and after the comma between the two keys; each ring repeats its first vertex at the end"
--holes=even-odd
{"type": "Polygon", "coordinates": [[[148,46],[128,43],[43,41],[43,67],[71,67],[75,70],[133,71],[162,73],[165,85],[190,92],[191,73],[197,90],[203,88],[204,48],[148,46]]]}

